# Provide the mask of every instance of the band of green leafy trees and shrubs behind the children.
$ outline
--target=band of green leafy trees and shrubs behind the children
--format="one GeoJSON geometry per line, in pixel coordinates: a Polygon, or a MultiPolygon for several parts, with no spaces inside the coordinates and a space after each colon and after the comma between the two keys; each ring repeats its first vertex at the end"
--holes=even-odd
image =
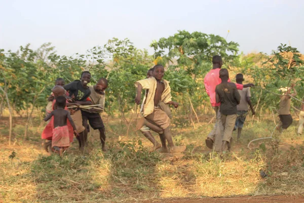
{"type": "MultiPolygon", "coordinates": [[[[91,85],[101,77],[109,81],[106,90],[106,112],[120,113],[128,125],[125,113],[135,110],[134,83],[144,79],[148,69],[154,64],[166,66],[164,79],[170,82],[173,100],[181,105],[178,115],[193,115],[193,109],[201,114],[202,109],[210,107],[203,79],[212,67],[214,55],[221,55],[224,67],[230,73],[243,73],[255,85],[279,93],[281,86],[288,86],[290,80],[301,87],[303,83],[303,61],[296,48],[280,45],[271,56],[263,53],[237,54],[238,43],[227,42],[224,38],[202,32],[178,31],[173,36],[161,38],[151,43],[155,54],[137,49],[128,39],[113,38],[103,46],[95,46],[86,54],[64,56],[56,54],[50,43],[32,50],[29,45],[16,52],[0,50],[0,85],[8,92],[13,109],[22,114],[30,109],[44,109],[46,99],[54,86],[56,78],[62,77],[66,83],[80,78],[81,72],[90,71],[91,85]],[[192,108],[193,106],[193,108],[192,108]]],[[[303,88],[298,88],[303,94],[303,88]]],[[[252,90],[252,101],[259,107],[275,110],[277,95],[252,90]]],[[[295,103],[299,106],[300,103],[295,103]]],[[[182,118],[184,120],[184,118],[182,118]]],[[[188,124],[190,122],[184,122],[188,124]]]]}

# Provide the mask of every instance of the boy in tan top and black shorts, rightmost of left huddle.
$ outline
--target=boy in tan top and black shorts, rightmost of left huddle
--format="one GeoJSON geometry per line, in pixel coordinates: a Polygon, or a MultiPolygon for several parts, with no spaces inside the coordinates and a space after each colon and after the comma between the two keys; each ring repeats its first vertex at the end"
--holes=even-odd
{"type": "Polygon", "coordinates": [[[100,113],[102,113],[104,109],[104,99],[105,99],[104,90],[107,87],[108,87],[108,82],[105,78],[100,78],[96,85],[89,86],[89,89],[91,91],[89,98],[92,101],[92,104],[100,105],[100,106],[96,107],[95,109],[93,108],[90,110],[87,109],[81,110],[83,125],[85,126],[85,128],[87,128],[88,120],[89,120],[91,127],[94,130],[95,129],[99,130],[101,148],[102,151],[104,152],[107,150],[105,146],[105,128],[100,113]]]}

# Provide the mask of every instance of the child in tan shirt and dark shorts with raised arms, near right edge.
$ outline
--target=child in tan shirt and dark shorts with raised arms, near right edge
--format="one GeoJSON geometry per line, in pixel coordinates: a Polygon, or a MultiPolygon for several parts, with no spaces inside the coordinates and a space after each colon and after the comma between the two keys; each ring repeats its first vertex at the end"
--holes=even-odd
{"type": "Polygon", "coordinates": [[[291,84],[290,88],[288,88],[287,91],[285,91],[283,93],[283,96],[281,96],[280,98],[280,107],[278,111],[280,124],[277,126],[277,130],[279,130],[279,132],[281,133],[286,130],[292,123],[292,117],[290,115],[291,96],[296,96],[297,94],[294,86],[295,84],[291,84]],[[293,90],[292,94],[291,89],[293,90]]]}

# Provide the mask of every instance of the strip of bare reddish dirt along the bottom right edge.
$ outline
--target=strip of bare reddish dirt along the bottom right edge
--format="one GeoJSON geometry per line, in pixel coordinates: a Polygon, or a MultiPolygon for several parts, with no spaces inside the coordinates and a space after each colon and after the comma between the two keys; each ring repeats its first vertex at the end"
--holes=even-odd
{"type": "Polygon", "coordinates": [[[154,201],[143,201],[144,203],[162,202],[162,203],[285,203],[285,202],[304,202],[304,196],[286,196],[286,195],[272,195],[272,196],[238,196],[238,197],[220,197],[220,198],[173,198],[160,199],[154,201]]]}

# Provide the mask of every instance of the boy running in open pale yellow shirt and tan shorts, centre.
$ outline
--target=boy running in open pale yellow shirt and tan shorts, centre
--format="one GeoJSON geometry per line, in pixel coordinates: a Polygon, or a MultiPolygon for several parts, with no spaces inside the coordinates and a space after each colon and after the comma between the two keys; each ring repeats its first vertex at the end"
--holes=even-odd
{"type": "MultiPolygon", "coordinates": [[[[186,149],[186,146],[174,146],[170,132],[170,118],[159,107],[160,101],[163,101],[165,104],[173,105],[175,108],[178,107],[178,103],[171,100],[169,82],[163,80],[164,72],[164,66],[156,65],[153,67],[154,77],[139,80],[135,83],[135,86],[137,87],[135,103],[137,105],[140,104],[142,89],[148,89],[149,91],[143,106],[143,117],[162,128],[162,136],[167,140],[171,153],[183,152],[186,149]]],[[[161,152],[169,151],[166,146],[163,146],[161,152]]]]}

